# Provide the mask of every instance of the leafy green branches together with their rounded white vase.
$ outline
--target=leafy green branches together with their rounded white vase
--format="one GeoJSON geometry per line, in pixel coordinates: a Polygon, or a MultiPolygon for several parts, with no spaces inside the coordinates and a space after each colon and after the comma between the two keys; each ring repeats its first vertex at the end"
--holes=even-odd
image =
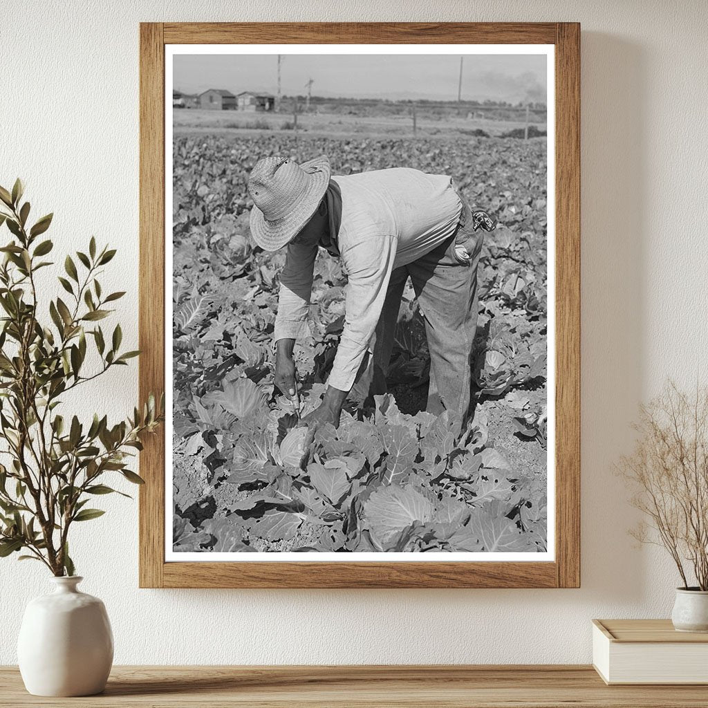
{"type": "Polygon", "coordinates": [[[36,695],[90,695],[108,679],[113,636],[101,600],[76,588],[69,532],[105,513],[93,500],[127,496],[111,476],[142,484],[128,464],[141,435],[159,426],[164,403],[157,409],[150,396],[117,423],[63,412],[65,394],[139,352],[120,350],[119,324],[110,335],[99,324],[124,295],[103,292],[98,280],[115,251],[91,238],[86,252],[64,260],[58,280],[66,294],[40,297],[46,281],[40,292],[37,273],[52,265],[52,241],[43,235],[52,215],[31,226],[29,215],[21,181],[0,188],[0,227],[11,236],[0,247],[0,556],[44,564],[56,586],[25,610],[18,639],[25,687],[36,695]]]}

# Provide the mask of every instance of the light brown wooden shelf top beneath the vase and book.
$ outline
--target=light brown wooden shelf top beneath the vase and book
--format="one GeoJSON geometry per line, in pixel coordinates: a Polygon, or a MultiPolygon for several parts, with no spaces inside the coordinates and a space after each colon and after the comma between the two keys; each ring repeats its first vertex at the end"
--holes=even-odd
{"type": "Polygon", "coordinates": [[[591,666],[116,666],[101,695],[40,698],[0,667],[0,705],[705,708],[708,686],[607,686],[591,666]]]}

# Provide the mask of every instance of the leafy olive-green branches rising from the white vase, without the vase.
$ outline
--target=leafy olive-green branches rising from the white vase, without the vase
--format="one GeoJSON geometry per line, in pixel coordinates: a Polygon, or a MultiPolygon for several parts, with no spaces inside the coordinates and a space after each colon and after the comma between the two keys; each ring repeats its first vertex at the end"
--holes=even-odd
{"type": "Polygon", "coordinates": [[[120,351],[120,324],[108,342],[96,324],[125,292],[103,293],[98,276],[115,249],[97,249],[93,236],[76,260],[66,257],[66,277],[58,280],[68,297],[48,299],[49,318],[42,322],[35,276],[53,265],[43,260],[52,241],[40,239],[52,214],[30,227],[23,191],[19,179],[12,190],[0,187],[0,227],[11,233],[0,247],[0,461],[7,463],[0,464],[0,557],[24,552],[20,559],[41,561],[55,576],[74,575],[69,529],[105,513],[86,506],[91,498],[129,496],[103,484],[108,473],[143,484],[127,465],[142,450],[142,435],[161,423],[164,394],[159,404],[151,394],[141,410],[114,425],[97,413],[88,424],[59,414],[64,394],[127,365],[139,351],[120,351]],[[86,361],[91,340],[91,358],[100,361],[93,370],[86,361]]]}

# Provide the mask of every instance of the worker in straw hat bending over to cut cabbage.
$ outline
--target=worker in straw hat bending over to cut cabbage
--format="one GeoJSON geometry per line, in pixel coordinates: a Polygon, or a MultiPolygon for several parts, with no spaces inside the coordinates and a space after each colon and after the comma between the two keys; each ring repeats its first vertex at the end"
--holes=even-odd
{"type": "Polygon", "coordinates": [[[287,246],[275,318],[275,384],[294,403],[292,352],[295,341],[309,334],[318,247],[341,258],[348,276],[344,327],[326,393],[301,421],[309,433],[326,423],[338,426],[370,355],[374,385],[385,379],[409,277],[430,350],[427,410],[466,416],[482,245],[477,229],[491,231],[496,221],[472,212],[450,176],[403,167],[332,176],[326,156],[301,165],[265,157],[253,167],[248,190],[253,240],[265,251],[287,246]]]}

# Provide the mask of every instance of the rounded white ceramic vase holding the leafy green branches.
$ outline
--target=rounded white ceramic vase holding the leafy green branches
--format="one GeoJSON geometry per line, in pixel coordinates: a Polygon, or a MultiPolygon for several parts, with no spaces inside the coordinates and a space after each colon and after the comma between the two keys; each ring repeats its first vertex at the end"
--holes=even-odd
{"type": "Polygon", "coordinates": [[[108,681],[113,632],[101,600],[76,589],[83,579],[52,578],[55,591],[27,605],[17,656],[35,696],[90,696],[108,681]]]}

